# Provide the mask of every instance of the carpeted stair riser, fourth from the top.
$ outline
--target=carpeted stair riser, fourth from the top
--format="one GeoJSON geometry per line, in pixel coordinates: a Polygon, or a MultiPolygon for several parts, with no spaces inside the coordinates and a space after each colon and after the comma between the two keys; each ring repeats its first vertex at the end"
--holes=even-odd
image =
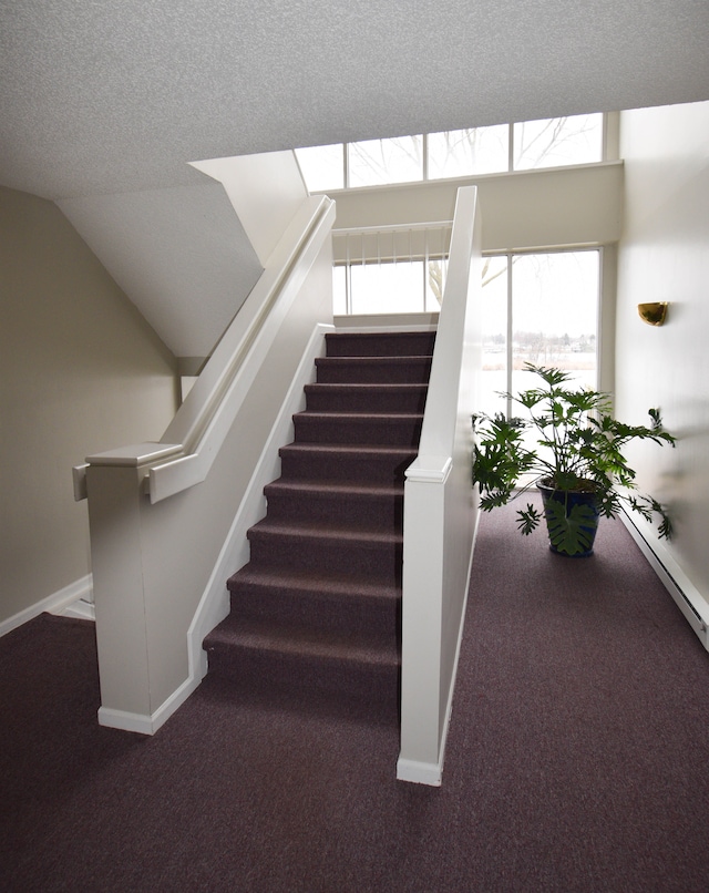
{"type": "Polygon", "coordinates": [[[294,415],[297,443],[369,443],[386,447],[417,448],[421,439],[422,419],[381,421],[370,419],[331,419],[294,415]]]}

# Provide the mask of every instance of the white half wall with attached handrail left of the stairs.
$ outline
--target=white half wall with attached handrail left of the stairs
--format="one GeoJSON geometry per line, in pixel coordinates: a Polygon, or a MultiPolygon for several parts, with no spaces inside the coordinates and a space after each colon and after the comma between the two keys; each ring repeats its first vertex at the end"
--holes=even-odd
{"type": "Polygon", "coordinates": [[[89,499],[102,725],[154,732],[206,671],[202,640],[228,609],[228,574],[215,568],[263,514],[253,494],[273,475],[265,444],[275,465],[285,441],[274,429],[299,409],[294,381],[315,365],[304,355],[331,326],[333,219],[328,198],[304,199],[160,443],[75,470],[89,499]]]}

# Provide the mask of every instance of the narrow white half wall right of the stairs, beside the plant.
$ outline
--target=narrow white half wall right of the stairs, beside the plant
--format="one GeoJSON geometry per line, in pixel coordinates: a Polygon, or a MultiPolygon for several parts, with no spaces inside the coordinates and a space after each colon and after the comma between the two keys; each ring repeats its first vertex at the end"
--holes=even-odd
{"type": "Polygon", "coordinates": [[[477,501],[471,413],[480,374],[480,219],[458,194],[419,455],[405,473],[401,780],[440,784],[463,629],[477,501]]]}

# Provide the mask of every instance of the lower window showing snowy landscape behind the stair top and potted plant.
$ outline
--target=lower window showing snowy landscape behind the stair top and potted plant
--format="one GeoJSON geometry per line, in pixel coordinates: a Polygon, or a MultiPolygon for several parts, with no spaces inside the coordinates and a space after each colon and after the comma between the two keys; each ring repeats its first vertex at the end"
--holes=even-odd
{"type": "MultiPolygon", "coordinates": [[[[335,314],[438,310],[448,260],[354,261],[335,267],[335,314]]],[[[480,409],[511,410],[499,393],[536,383],[524,365],[553,366],[598,387],[600,252],[510,253],[483,258],[480,409]]]]}

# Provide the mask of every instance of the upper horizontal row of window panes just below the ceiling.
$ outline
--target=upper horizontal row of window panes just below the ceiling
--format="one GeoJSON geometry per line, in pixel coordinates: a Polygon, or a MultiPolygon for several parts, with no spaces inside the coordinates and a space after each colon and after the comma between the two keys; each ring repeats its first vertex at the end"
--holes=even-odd
{"type": "Polygon", "coordinates": [[[310,192],[603,161],[603,114],[297,148],[310,192]]]}

